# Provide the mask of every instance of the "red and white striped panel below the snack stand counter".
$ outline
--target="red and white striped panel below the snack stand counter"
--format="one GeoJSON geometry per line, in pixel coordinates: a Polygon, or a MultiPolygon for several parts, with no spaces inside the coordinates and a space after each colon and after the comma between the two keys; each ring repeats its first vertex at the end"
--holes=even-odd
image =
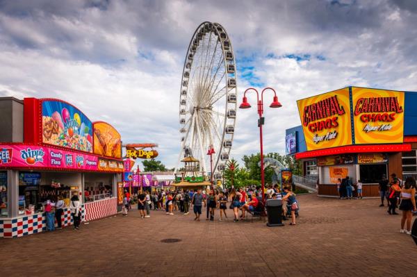
{"type": "Polygon", "coordinates": [[[117,214],[117,198],[103,199],[95,202],[85,203],[85,221],[101,219],[117,214]]]}

